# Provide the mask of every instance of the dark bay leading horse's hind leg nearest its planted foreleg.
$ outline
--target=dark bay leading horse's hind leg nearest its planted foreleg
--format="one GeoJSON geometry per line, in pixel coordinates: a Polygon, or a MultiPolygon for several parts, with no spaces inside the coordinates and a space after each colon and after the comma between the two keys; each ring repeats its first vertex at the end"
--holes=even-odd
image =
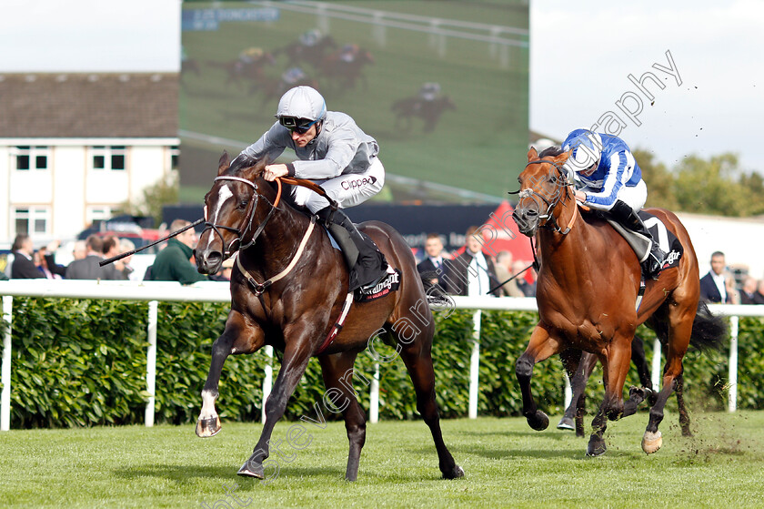
{"type": "Polygon", "coordinates": [[[321,362],[324,385],[327,388],[326,393],[337,411],[342,411],[345,417],[347,441],[350,443],[345,472],[347,481],[357,479],[361,449],[366,442],[366,417],[353,389],[353,364],[356,361],[356,355],[356,352],[343,352],[318,358],[321,362]]]}

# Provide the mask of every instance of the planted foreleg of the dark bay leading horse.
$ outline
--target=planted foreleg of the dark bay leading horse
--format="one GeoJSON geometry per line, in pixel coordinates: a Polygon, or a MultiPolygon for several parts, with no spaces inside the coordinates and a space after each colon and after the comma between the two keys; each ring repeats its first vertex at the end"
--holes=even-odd
{"type": "Polygon", "coordinates": [[[260,440],[257,441],[254,453],[237,472],[238,475],[265,479],[263,462],[270,454],[270,438],[273,428],[284,415],[286,402],[289,401],[292,392],[295,392],[297,382],[305,373],[307,361],[310,360],[312,352],[313,345],[310,341],[287,341],[281,369],[278,371],[276,382],[273,384],[273,391],[266,401],[266,423],[262,433],[260,433],[260,440]]]}

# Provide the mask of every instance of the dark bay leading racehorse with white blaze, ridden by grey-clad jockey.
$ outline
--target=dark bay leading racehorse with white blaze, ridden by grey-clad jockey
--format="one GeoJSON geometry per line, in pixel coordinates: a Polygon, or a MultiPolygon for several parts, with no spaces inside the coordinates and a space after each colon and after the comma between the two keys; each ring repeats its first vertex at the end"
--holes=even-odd
{"type": "Polygon", "coordinates": [[[381,222],[359,226],[374,239],[387,262],[401,271],[400,287],[381,299],[354,302],[342,330],[327,350],[321,351],[346,300],[346,262],[321,228],[311,229],[314,223],[306,214],[285,201],[279,203],[275,185],[262,178],[265,161],[254,167],[238,166],[229,167],[225,153],[220,158],[217,178],[205,197],[206,229],[196,247],[196,266],[202,273],[215,273],[236,250],[241,263],[236,263],[231,279],[226,329],[212,347],[196,434],[208,437],[220,431],[215,400],[228,355],[252,353],[264,345],[283,351],[281,369],[266,402],[260,440],[238,471],[239,475],[263,479],[263,461],[268,457],[273,428],[284,414],[307,361],[317,356],[327,386],[325,396],[335,408],[343,409],[345,417],[350,442],[346,478],[356,480],[366,440],[366,419],[352,386],[353,364],[358,352],[366,349],[381,329],[396,341],[396,351],[406,363],[417,392],[417,410],[435,441],[441,473],[449,479],[464,475],[440,432],[430,355],[435,324],[416,261],[404,239],[381,222]],[[277,279],[276,275],[283,277],[277,279]]]}

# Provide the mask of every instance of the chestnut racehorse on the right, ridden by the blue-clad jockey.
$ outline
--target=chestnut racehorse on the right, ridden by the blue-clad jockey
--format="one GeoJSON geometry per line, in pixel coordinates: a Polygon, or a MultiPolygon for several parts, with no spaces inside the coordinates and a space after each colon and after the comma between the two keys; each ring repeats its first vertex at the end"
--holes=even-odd
{"type": "Polygon", "coordinates": [[[695,250],[679,219],[664,209],[649,212],[677,236],[684,254],[678,267],[647,281],[636,309],[641,278],[637,256],[604,219],[578,211],[567,170],[562,168],[568,156],[559,148],[540,155],[531,148],[528,165],[518,178],[520,199],[513,217],[521,233],[536,237],[541,260],[536,294],[539,321],[516,365],[523,415],[535,430],[548,426],[548,416],[538,410],[530,392],[534,364],[569,349],[593,353],[602,362],[605,398],[592,422],[587,454],[605,453],[603,433],[608,419],[637,412],[639,402],[649,396],[643,389],[632,388],[628,402],[623,401],[634,332],[648,321],[666,342],[667,352],[662,389],[650,408],[642,439],[642,450],[655,453],[662,444],[658,424],[682,375],[690,336],[696,344],[716,345],[726,329],[705,305],[699,305],[695,250]]]}

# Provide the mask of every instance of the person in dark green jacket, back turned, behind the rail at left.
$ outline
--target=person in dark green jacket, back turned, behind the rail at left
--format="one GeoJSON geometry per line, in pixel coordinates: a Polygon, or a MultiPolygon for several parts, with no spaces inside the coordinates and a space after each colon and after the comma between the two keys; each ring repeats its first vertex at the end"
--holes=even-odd
{"type": "MultiPolygon", "coordinates": [[[[190,224],[185,219],[176,219],[170,225],[170,231],[182,229],[190,224]]],[[[196,265],[191,263],[197,241],[193,228],[167,240],[167,247],[156,255],[149,277],[155,281],[178,281],[181,284],[209,280],[206,275],[199,274],[196,265]]]]}

